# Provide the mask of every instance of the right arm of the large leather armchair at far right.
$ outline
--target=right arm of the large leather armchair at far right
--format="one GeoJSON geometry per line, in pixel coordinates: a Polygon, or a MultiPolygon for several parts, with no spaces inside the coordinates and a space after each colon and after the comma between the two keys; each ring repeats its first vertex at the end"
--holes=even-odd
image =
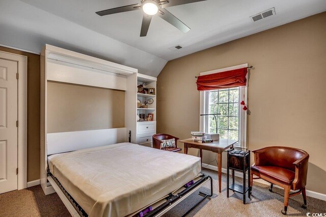
{"type": "Polygon", "coordinates": [[[293,190],[301,189],[306,186],[307,173],[308,173],[308,160],[309,154],[293,162],[295,165],[295,175],[293,184],[293,190]]]}

